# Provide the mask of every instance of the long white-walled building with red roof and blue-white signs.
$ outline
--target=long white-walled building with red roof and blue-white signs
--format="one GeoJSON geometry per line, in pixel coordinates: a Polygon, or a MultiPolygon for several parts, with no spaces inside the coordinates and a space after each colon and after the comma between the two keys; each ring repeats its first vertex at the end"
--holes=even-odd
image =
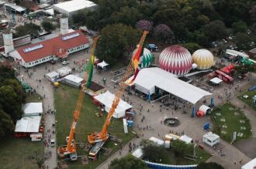
{"type": "Polygon", "coordinates": [[[26,68],[50,60],[67,58],[68,54],[90,47],[89,40],[81,31],[74,31],[42,42],[22,46],[9,53],[26,68]]]}

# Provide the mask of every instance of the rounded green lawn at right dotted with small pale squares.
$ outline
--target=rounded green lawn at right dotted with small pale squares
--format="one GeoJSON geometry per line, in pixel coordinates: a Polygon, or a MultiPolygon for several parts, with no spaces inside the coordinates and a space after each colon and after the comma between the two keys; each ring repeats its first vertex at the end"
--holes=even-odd
{"type": "Polygon", "coordinates": [[[214,132],[216,134],[219,134],[220,129],[220,137],[223,140],[227,140],[227,142],[231,142],[234,131],[237,131],[237,134],[243,134],[242,137],[237,135],[236,141],[251,136],[249,120],[240,109],[228,103],[220,106],[220,109],[221,110],[213,110],[213,113],[211,114],[214,121],[214,132]],[[241,127],[245,127],[245,129],[242,129],[241,127]],[[225,134],[225,132],[227,133],[225,134]]]}

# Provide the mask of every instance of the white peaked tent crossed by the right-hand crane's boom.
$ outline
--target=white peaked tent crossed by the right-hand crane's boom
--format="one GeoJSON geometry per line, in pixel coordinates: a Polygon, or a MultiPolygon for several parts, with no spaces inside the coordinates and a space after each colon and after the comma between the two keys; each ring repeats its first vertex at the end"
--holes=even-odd
{"type": "MultiPolygon", "coordinates": [[[[109,91],[106,91],[106,93],[99,94],[94,98],[95,100],[98,100],[100,103],[104,104],[106,112],[109,113],[109,110],[112,106],[112,102],[115,99],[115,95],[110,93],[109,91]]],[[[115,113],[113,114],[113,117],[115,118],[124,117],[126,110],[129,110],[130,108],[132,108],[132,106],[129,103],[126,103],[125,101],[120,100],[118,106],[116,107],[115,113]]]]}

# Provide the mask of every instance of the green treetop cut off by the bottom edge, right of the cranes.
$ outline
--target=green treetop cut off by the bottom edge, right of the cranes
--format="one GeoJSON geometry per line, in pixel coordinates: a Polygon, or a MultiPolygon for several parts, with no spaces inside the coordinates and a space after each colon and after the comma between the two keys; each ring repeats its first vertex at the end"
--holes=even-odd
{"type": "Polygon", "coordinates": [[[127,155],[125,157],[114,159],[111,161],[109,169],[147,169],[147,164],[140,159],[133,157],[132,155],[127,155]]]}

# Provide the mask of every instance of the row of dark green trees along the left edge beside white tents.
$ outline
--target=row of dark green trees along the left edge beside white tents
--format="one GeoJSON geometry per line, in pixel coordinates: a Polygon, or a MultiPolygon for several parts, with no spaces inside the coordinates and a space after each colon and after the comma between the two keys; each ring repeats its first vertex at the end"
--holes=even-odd
{"type": "Polygon", "coordinates": [[[11,134],[21,118],[26,94],[10,66],[0,65],[0,138],[11,134]]]}

